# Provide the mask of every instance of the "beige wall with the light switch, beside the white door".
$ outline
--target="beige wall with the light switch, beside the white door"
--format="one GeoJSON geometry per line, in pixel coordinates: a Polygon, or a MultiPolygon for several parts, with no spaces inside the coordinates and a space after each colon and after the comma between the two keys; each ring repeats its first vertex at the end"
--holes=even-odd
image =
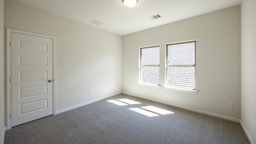
{"type": "Polygon", "coordinates": [[[121,36],[14,0],[4,6],[4,28],[56,36],[57,111],[122,92],[121,36]]]}

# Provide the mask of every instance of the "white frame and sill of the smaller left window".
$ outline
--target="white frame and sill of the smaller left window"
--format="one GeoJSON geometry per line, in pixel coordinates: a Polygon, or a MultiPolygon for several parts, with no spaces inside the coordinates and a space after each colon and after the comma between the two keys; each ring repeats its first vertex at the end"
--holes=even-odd
{"type": "Polygon", "coordinates": [[[160,45],[155,45],[155,46],[145,46],[145,47],[140,47],[139,48],[139,55],[140,55],[140,72],[139,72],[139,84],[144,84],[144,85],[148,85],[148,86],[160,86],[160,72],[159,72],[159,84],[153,84],[153,83],[146,83],[146,82],[142,82],[142,66],[158,66],[159,67],[159,71],[160,71],[160,56],[159,56],[159,64],[142,64],[142,49],[145,48],[156,48],[159,47],[159,51],[160,51],[160,45]]]}

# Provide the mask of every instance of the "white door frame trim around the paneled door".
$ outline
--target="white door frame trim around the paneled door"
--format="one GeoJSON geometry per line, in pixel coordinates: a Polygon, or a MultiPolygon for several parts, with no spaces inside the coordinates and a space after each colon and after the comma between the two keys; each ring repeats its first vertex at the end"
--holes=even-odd
{"type": "Polygon", "coordinates": [[[12,73],[12,66],[11,66],[11,40],[12,40],[12,32],[20,33],[20,34],[28,34],[32,36],[40,36],[44,38],[51,38],[53,40],[53,115],[56,114],[56,37],[54,36],[47,36],[44,34],[36,34],[33,32],[26,32],[22,30],[15,30],[11,28],[6,28],[6,122],[7,122],[7,129],[9,130],[12,128],[12,119],[11,119],[11,112],[12,112],[12,89],[11,89],[11,73],[12,73]]]}

